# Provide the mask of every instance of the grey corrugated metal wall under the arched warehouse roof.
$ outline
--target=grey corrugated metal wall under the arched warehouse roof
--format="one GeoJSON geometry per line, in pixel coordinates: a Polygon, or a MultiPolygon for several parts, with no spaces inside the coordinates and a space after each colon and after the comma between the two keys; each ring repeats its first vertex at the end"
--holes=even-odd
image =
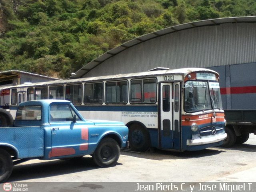
{"type": "Polygon", "coordinates": [[[256,62],[255,37],[255,23],[182,30],[128,48],[84,77],[142,72],[156,67],[206,68],[256,62]]]}

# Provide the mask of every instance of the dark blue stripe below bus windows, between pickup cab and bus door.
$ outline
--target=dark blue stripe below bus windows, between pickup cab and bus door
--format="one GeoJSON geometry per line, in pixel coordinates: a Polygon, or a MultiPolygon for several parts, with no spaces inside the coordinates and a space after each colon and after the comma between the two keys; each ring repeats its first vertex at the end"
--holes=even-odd
{"type": "Polygon", "coordinates": [[[75,106],[78,111],[135,111],[135,112],[158,112],[158,106],[75,106]]]}

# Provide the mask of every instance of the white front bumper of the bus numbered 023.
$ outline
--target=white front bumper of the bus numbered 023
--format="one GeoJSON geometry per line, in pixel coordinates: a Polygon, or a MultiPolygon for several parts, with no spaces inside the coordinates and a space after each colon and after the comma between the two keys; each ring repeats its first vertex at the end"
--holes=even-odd
{"type": "Polygon", "coordinates": [[[210,143],[216,143],[219,141],[222,141],[227,138],[227,134],[221,134],[221,135],[216,135],[212,137],[207,137],[207,138],[200,138],[200,139],[188,139],[187,140],[187,145],[188,146],[195,146],[195,145],[204,145],[204,144],[210,144],[210,143]]]}

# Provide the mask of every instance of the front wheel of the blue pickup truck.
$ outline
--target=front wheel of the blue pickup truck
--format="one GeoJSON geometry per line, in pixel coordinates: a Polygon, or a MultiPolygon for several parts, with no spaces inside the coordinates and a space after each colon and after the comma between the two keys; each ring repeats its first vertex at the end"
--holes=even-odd
{"type": "Polygon", "coordinates": [[[116,140],[104,138],[100,141],[95,152],[92,154],[94,162],[100,167],[116,165],[120,156],[120,147],[116,140]]]}

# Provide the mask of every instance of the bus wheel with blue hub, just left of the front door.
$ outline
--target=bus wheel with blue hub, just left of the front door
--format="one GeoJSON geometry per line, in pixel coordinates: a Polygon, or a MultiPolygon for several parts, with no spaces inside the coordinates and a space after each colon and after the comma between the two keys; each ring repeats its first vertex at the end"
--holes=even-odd
{"type": "Polygon", "coordinates": [[[144,152],[149,147],[149,134],[142,126],[132,124],[129,128],[130,147],[133,151],[144,152]]]}

